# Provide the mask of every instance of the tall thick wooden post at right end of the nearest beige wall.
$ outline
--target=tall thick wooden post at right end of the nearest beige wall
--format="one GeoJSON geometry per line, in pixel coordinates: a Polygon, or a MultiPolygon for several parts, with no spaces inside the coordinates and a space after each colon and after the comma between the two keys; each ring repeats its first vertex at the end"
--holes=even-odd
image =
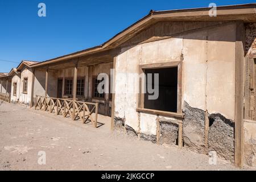
{"type": "Polygon", "coordinates": [[[235,93],[235,144],[234,163],[243,166],[243,75],[244,75],[244,24],[237,22],[236,28],[236,93],[235,93]]]}

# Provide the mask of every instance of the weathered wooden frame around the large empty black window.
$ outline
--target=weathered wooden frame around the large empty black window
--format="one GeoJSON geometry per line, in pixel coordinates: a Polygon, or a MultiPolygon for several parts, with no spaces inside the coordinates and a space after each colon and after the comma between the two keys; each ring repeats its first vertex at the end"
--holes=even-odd
{"type": "MultiPolygon", "coordinates": [[[[137,111],[148,114],[157,114],[163,115],[166,117],[176,117],[183,118],[182,114],[182,61],[171,61],[171,62],[163,62],[163,63],[151,63],[151,64],[141,64],[139,65],[139,74],[144,73],[145,69],[160,69],[160,68],[173,68],[177,67],[177,112],[169,112],[162,110],[154,110],[154,109],[145,109],[144,108],[144,93],[142,93],[142,80],[139,80],[139,94],[137,98],[137,111]]],[[[144,83],[146,83],[144,81],[144,83]]]]}

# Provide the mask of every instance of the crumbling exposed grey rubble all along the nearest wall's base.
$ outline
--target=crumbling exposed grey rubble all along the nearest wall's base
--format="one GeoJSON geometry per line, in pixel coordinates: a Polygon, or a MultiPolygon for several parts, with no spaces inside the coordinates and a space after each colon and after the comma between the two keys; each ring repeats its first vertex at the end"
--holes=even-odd
{"type": "MultiPolygon", "coordinates": [[[[208,154],[210,151],[216,151],[220,158],[234,162],[234,122],[219,113],[205,114],[206,111],[191,107],[187,102],[184,102],[183,106],[184,147],[198,152],[199,154],[208,154]],[[209,119],[207,136],[205,136],[207,128],[205,126],[206,115],[208,115],[209,119]]],[[[157,117],[156,123],[158,122],[158,129],[156,130],[158,131],[156,131],[156,134],[159,135],[150,135],[135,131],[133,127],[126,125],[125,120],[125,118],[115,117],[115,130],[125,131],[125,133],[131,137],[139,137],[142,140],[151,141],[152,143],[178,144],[179,125],[176,119],[169,121],[168,119],[157,117]]],[[[248,147],[253,148],[255,146],[255,140],[253,142],[250,142],[248,147]]],[[[255,148],[250,151],[255,151],[255,148]]],[[[254,154],[254,152],[250,152],[250,154],[247,155],[250,161],[252,158],[254,159],[254,154]]]]}

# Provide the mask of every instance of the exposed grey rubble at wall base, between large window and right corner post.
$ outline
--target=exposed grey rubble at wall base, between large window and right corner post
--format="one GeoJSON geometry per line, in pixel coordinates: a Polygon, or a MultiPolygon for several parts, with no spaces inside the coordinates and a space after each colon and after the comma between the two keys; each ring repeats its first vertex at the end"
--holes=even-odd
{"type": "Polygon", "coordinates": [[[220,158],[234,162],[234,122],[221,114],[208,114],[209,131],[205,136],[205,111],[184,102],[184,146],[200,154],[216,151],[220,158]]]}

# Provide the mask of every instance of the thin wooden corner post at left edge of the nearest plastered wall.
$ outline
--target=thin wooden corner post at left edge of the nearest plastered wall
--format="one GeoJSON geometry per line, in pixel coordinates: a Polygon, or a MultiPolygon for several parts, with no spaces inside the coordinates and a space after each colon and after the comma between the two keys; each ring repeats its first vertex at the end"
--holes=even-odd
{"type": "MultiPolygon", "coordinates": [[[[114,131],[114,119],[115,119],[115,64],[116,64],[117,58],[114,57],[114,63],[113,63],[113,83],[112,83],[112,106],[111,106],[111,126],[110,130],[111,132],[114,131]]],[[[111,94],[111,93],[110,93],[111,94]]]]}

